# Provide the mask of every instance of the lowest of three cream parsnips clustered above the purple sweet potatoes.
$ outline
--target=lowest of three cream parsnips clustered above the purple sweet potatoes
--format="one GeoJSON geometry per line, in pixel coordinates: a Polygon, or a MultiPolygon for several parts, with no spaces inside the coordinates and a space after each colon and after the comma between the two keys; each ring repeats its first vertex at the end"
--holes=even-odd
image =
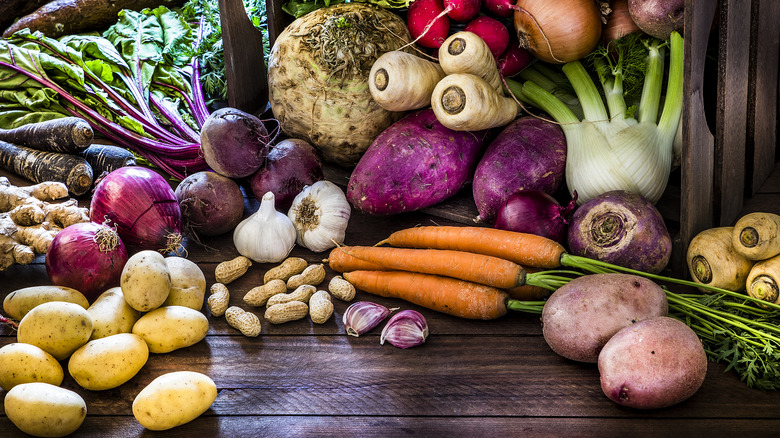
{"type": "Polygon", "coordinates": [[[471,73],[452,73],[433,89],[431,107],[439,122],[455,131],[481,131],[507,125],[520,105],[471,73]]]}

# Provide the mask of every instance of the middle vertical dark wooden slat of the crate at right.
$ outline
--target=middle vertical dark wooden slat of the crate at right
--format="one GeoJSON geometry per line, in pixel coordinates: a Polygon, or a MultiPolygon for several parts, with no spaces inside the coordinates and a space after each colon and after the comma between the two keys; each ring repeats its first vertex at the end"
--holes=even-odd
{"type": "Polygon", "coordinates": [[[721,0],[715,134],[715,206],[718,222],[731,223],[742,210],[745,192],[745,135],[752,0],[721,0]]]}

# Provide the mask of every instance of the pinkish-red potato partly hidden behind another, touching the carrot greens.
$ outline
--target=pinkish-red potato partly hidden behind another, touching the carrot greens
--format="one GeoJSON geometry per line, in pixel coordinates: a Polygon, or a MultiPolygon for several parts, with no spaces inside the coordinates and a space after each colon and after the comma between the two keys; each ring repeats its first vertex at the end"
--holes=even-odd
{"type": "Polygon", "coordinates": [[[668,311],[666,292],[651,280],[631,274],[591,274],[550,295],[542,310],[542,334],[559,355],[596,363],[615,333],[668,311]]]}

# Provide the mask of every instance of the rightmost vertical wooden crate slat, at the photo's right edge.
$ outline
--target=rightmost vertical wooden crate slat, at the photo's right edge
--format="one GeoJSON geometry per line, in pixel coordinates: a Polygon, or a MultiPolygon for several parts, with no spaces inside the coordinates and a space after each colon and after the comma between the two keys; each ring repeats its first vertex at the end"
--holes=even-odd
{"type": "Polygon", "coordinates": [[[751,178],[748,190],[755,194],[775,168],[777,148],[777,87],[780,57],[780,2],[753,0],[750,41],[751,78],[746,145],[751,178]]]}

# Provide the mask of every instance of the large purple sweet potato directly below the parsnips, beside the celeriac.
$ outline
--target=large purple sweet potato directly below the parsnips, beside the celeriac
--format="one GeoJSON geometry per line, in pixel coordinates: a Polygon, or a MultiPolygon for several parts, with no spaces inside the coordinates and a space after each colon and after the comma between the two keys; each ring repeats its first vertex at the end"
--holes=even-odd
{"type": "Polygon", "coordinates": [[[410,113],[363,154],[350,176],[347,199],[370,215],[437,204],[470,180],[486,134],[446,128],[430,108],[410,113]]]}

